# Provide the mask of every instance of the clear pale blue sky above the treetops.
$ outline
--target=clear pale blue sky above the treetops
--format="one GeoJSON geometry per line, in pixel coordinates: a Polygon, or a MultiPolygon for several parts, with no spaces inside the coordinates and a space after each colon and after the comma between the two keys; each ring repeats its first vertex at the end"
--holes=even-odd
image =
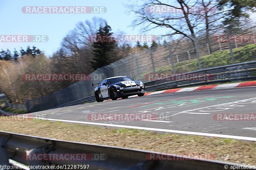
{"type": "MultiPolygon", "coordinates": [[[[126,12],[124,3],[136,4],[136,0],[0,0],[1,26],[0,35],[47,35],[47,42],[0,42],[0,49],[7,48],[13,52],[20,47],[36,46],[47,56],[52,55],[60,47],[65,35],[75,28],[79,21],[91,20],[93,17],[106,19],[112,32],[122,31],[126,35],[143,35],[139,27],[130,27],[134,14],[126,12]],[[85,14],[28,14],[22,12],[24,6],[104,6],[106,13],[85,14]]],[[[253,15],[252,17],[256,17],[253,15]]],[[[161,35],[153,30],[146,34],[161,35]]]]}

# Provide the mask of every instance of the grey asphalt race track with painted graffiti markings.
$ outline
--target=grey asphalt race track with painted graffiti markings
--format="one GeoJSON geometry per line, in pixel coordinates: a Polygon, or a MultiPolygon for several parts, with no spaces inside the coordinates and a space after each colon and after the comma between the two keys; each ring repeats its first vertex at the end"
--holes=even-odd
{"type": "Polygon", "coordinates": [[[234,137],[237,139],[254,140],[255,117],[254,119],[250,117],[250,120],[244,118],[228,120],[227,117],[224,118],[224,114],[256,114],[255,94],[256,87],[165,93],[62,107],[35,112],[32,115],[40,119],[101,127],[130,128],[133,126],[131,128],[159,132],[205,134],[205,136],[215,137],[229,135],[238,136],[238,138],[234,137]],[[144,114],[148,117],[132,120],[131,117],[124,119],[122,117],[124,114],[126,116],[144,114]],[[224,117],[217,119],[217,115],[221,116],[220,114],[224,117]],[[100,117],[103,115],[104,119],[100,117]]]}

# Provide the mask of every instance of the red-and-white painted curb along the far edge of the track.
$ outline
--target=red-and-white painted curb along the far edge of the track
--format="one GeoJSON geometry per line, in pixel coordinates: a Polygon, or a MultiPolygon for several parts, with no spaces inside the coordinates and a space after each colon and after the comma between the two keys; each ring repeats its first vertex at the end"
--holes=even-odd
{"type": "MultiPolygon", "coordinates": [[[[144,96],[154,95],[154,94],[163,94],[163,93],[174,93],[174,92],[191,92],[191,91],[200,91],[200,90],[215,90],[215,89],[230,89],[236,87],[251,87],[256,86],[256,81],[244,82],[244,83],[231,83],[231,84],[224,84],[224,85],[206,85],[201,87],[188,87],[182,89],[169,89],[163,90],[158,92],[147,92],[144,96]]],[[[128,98],[138,97],[138,95],[129,96],[128,98]]],[[[117,99],[120,100],[121,98],[117,99]]],[[[104,101],[110,101],[104,100],[104,101]]]]}

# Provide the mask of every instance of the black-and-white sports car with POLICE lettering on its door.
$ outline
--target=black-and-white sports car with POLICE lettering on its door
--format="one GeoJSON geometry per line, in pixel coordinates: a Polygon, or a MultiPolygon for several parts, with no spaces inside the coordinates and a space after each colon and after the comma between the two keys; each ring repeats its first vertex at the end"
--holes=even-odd
{"type": "Polygon", "coordinates": [[[92,86],[99,85],[94,89],[95,99],[101,102],[105,99],[117,100],[118,98],[127,99],[129,96],[144,96],[146,93],[144,84],[135,81],[127,76],[106,78],[101,83],[92,83],[92,86]],[[100,85],[99,85],[100,84],[100,85]]]}

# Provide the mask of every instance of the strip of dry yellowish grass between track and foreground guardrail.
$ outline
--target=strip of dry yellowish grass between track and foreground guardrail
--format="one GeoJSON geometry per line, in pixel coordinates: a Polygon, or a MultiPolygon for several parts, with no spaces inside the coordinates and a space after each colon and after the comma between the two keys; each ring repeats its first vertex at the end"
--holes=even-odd
{"type": "MultiPolygon", "coordinates": [[[[0,117],[1,120],[1,117],[0,117]]],[[[255,164],[256,143],[138,129],[112,129],[45,120],[0,121],[3,131],[172,154],[214,154],[214,160],[255,164]]]]}

